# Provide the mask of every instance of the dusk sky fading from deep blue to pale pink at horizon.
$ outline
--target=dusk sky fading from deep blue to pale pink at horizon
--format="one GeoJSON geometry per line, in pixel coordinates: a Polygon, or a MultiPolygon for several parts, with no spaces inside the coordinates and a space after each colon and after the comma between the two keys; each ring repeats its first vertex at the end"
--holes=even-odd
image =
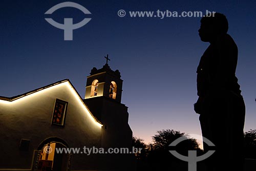
{"type": "MultiPolygon", "coordinates": [[[[226,15],[238,45],[237,77],[246,105],[244,131],[256,129],[256,1],[71,1],[72,7],[45,14],[66,1],[1,1],[0,96],[15,96],[69,79],[84,98],[87,76],[105,64],[121,72],[122,103],[136,137],[152,141],[162,129],[201,135],[196,69],[209,43],[198,36],[201,17],[131,17],[130,11],[216,11],[226,15]],[[119,10],[126,15],[118,16],[119,10]],[[73,40],[45,18],[73,23],[73,40]]],[[[218,117],[218,113],[216,113],[218,117]]]]}

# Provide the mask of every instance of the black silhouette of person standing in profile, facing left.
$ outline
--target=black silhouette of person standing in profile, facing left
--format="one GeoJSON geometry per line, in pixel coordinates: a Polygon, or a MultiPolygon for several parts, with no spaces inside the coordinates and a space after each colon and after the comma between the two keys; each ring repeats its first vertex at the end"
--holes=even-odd
{"type": "Polygon", "coordinates": [[[198,30],[201,40],[210,43],[197,68],[194,104],[203,137],[216,146],[206,159],[208,170],[243,170],[245,104],[235,74],[238,47],[227,31],[228,21],[220,13],[203,17],[198,30]]]}

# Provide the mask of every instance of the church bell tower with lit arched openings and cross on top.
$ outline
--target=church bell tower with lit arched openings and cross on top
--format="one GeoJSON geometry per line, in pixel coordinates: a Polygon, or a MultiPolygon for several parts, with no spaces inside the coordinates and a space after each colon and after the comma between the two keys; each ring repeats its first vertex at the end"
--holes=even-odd
{"type": "MultiPolygon", "coordinates": [[[[100,142],[102,148],[131,149],[133,132],[128,123],[128,107],[121,103],[123,80],[118,70],[110,68],[108,55],[105,59],[105,65],[100,69],[94,67],[87,77],[83,102],[103,125],[100,142]]],[[[123,170],[124,165],[128,167],[125,161],[131,161],[133,157],[131,154],[116,154],[113,159],[113,154],[106,155],[102,158],[101,165],[108,163],[112,167],[122,168],[118,170],[123,170]]]]}

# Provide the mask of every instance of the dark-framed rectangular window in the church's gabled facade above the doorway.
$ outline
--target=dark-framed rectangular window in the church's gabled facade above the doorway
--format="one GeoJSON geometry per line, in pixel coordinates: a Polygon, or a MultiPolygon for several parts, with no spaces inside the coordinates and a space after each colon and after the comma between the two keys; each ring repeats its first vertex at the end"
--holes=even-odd
{"type": "Polygon", "coordinates": [[[52,114],[52,125],[65,126],[68,102],[56,99],[52,114]]]}

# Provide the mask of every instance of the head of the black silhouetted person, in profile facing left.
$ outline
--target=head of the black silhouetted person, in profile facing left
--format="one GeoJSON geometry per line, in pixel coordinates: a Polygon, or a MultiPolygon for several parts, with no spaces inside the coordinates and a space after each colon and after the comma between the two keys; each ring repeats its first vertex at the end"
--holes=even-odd
{"type": "Polygon", "coordinates": [[[210,42],[219,35],[226,34],[228,31],[228,21],[221,13],[212,13],[201,19],[201,27],[198,30],[202,41],[210,42]]]}

